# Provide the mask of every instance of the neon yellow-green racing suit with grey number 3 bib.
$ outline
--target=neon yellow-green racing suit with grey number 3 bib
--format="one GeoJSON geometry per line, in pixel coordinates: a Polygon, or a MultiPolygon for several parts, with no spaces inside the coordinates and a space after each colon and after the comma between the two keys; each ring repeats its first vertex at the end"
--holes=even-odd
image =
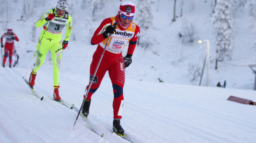
{"type": "Polygon", "coordinates": [[[58,17],[56,8],[46,11],[43,16],[36,22],[36,27],[44,26],[42,33],[38,38],[36,46],[36,65],[33,68],[34,73],[44,64],[45,56],[48,50],[51,51],[53,65],[53,85],[54,88],[59,88],[59,72],[60,60],[62,56],[62,40],[61,31],[67,27],[65,41],[69,40],[72,32],[72,18],[66,11],[62,17],[58,17]],[[52,13],[55,17],[52,20],[46,21],[45,18],[52,13]]]}

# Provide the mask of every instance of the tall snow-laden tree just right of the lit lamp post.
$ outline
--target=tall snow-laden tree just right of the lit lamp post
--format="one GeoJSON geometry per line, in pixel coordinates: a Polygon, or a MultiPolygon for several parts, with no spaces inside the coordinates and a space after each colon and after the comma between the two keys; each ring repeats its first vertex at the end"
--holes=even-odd
{"type": "Polygon", "coordinates": [[[232,35],[233,18],[230,13],[230,0],[218,0],[212,14],[212,23],[214,26],[213,34],[216,35],[216,58],[224,60],[224,57],[232,59],[232,35]]]}

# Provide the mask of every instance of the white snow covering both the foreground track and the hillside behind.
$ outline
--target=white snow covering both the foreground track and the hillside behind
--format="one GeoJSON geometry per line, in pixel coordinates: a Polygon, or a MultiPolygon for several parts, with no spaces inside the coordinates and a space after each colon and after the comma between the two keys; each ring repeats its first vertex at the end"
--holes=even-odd
{"type": "MultiPolygon", "coordinates": [[[[11,26],[20,39],[19,42],[15,42],[20,60],[15,68],[0,67],[0,142],[127,142],[108,131],[112,128],[113,121],[113,91],[108,74],[92,96],[89,114],[89,119],[96,130],[104,133],[103,138],[91,132],[80,117],[73,129],[77,113],[47,97],[52,96],[53,92],[50,56],[37,72],[34,86],[36,92],[44,96],[43,101],[37,99],[28,86],[22,83],[22,76],[27,72],[36,49],[35,41],[42,30],[36,28],[33,37],[33,26],[44,11],[56,3],[45,0],[45,3],[49,4],[43,7],[42,2],[36,2],[34,13],[26,21],[17,21],[16,19],[20,19],[19,12],[22,11],[23,1],[1,0],[3,14],[0,17],[3,22],[0,23],[0,32],[6,31],[4,20],[7,19],[7,27],[11,26]],[[10,7],[9,17],[5,17],[5,4],[10,7]]],[[[137,0],[132,2],[137,4],[137,0]]],[[[193,2],[194,10],[191,10],[192,2],[184,3],[183,16],[172,24],[170,23],[173,16],[173,1],[159,1],[159,8],[158,0],[151,4],[154,19],[148,33],[155,42],[146,49],[138,45],[133,54],[133,63],[125,69],[121,124],[127,136],[135,143],[240,143],[255,140],[255,106],[227,101],[230,95],[256,101],[256,92],[253,90],[255,75],[248,67],[248,64],[255,62],[255,35],[251,33],[248,24],[248,11],[241,8],[234,17],[236,35],[233,60],[219,62],[218,70],[214,69],[215,62],[212,60],[208,71],[209,86],[205,86],[206,69],[202,86],[198,86],[198,80],[191,82],[193,69],[190,67],[203,64],[206,43],[199,44],[194,41],[190,44],[181,44],[179,32],[184,21],[193,22],[198,40],[210,41],[210,55],[213,55],[215,45],[212,23],[209,22],[211,2],[193,2]],[[164,83],[159,83],[158,78],[164,83]],[[223,84],[224,80],[227,81],[226,88],[216,87],[218,81],[223,84]]],[[[74,9],[70,14],[74,20],[74,31],[68,48],[63,51],[60,69],[60,96],[63,101],[78,108],[82,104],[84,89],[89,82],[89,65],[96,48],[90,45],[90,38],[103,18],[116,14],[120,2],[106,0],[105,7],[111,9],[106,10],[93,22],[90,6],[82,9],[80,3],[79,0],[72,2],[74,9]]],[[[177,4],[177,15],[180,11],[179,6],[180,4],[177,4]]],[[[136,23],[136,18],[134,22],[136,23]]],[[[26,74],[27,79],[31,69],[32,66],[26,74]]]]}

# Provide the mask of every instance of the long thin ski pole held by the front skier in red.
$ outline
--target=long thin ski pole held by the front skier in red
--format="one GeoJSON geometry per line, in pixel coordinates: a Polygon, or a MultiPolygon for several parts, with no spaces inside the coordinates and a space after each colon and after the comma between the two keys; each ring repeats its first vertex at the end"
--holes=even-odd
{"type": "MultiPolygon", "coordinates": [[[[115,22],[115,23],[113,24],[113,26],[116,26],[116,25],[117,25],[117,23],[115,22]]],[[[108,36],[108,41],[109,41],[110,36],[111,36],[111,34],[108,36]]],[[[79,114],[80,114],[80,112],[81,112],[81,109],[82,109],[82,107],[83,107],[83,105],[84,105],[85,98],[87,97],[87,94],[88,94],[88,92],[89,92],[89,90],[90,90],[90,88],[91,88],[91,86],[92,86],[92,82],[93,82],[94,77],[95,77],[95,75],[96,75],[96,72],[98,71],[98,68],[99,68],[99,66],[100,66],[100,62],[101,62],[101,59],[102,59],[102,57],[103,57],[103,55],[104,55],[104,53],[105,53],[105,50],[106,50],[108,41],[107,41],[107,43],[106,43],[106,45],[105,45],[105,48],[104,48],[103,51],[102,51],[102,54],[101,54],[101,56],[100,56],[99,63],[98,63],[98,65],[97,65],[96,69],[95,69],[95,72],[94,72],[94,74],[93,74],[93,76],[92,76],[92,79],[90,80],[90,84],[89,84],[88,90],[86,91],[86,94],[85,94],[85,97],[84,97],[82,106],[80,107],[80,109],[79,109],[79,111],[78,111],[78,114],[77,114],[77,116],[76,116],[76,120],[77,120],[77,118],[78,118],[78,116],[79,116],[79,114]]],[[[74,123],[74,125],[73,125],[73,129],[74,129],[75,124],[76,124],[76,121],[75,121],[75,123],[74,123]]]]}

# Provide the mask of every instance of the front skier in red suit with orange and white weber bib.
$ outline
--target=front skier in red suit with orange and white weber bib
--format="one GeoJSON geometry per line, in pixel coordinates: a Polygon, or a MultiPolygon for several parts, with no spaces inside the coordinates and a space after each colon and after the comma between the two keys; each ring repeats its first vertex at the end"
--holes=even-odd
{"type": "Polygon", "coordinates": [[[91,43],[92,45],[98,44],[98,46],[92,56],[92,63],[90,66],[90,79],[92,79],[94,75],[95,69],[100,61],[100,57],[106,44],[107,46],[94,80],[92,81],[91,88],[88,89],[90,82],[86,87],[86,90],[89,91],[85,97],[86,99],[82,107],[82,114],[87,118],[89,114],[92,94],[95,93],[96,90],[100,87],[100,83],[105,73],[108,71],[114,92],[113,131],[121,136],[124,136],[124,129],[120,125],[124,103],[124,68],[128,67],[132,63],[132,54],[140,34],[139,26],[132,22],[134,12],[135,5],[132,2],[123,2],[119,7],[117,15],[104,19],[94,32],[91,43]],[[113,26],[115,22],[117,25],[113,26]],[[110,36],[109,41],[108,36],[110,36]],[[123,57],[122,51],[126,44],[128,44],[128,51],[127,55],[123,57]]]}

